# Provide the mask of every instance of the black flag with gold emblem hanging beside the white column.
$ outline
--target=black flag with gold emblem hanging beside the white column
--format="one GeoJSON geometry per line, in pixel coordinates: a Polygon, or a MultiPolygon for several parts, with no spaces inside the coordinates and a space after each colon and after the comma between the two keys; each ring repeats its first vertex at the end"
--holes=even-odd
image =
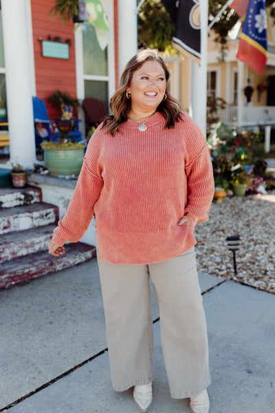
{"type": "Polygon", "coordinates": [[[162,0],[175,23],[173,46],[199,63],[201,59],[201,25],[199,1],[162,0]]]}

